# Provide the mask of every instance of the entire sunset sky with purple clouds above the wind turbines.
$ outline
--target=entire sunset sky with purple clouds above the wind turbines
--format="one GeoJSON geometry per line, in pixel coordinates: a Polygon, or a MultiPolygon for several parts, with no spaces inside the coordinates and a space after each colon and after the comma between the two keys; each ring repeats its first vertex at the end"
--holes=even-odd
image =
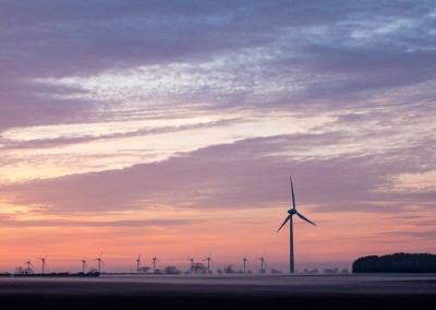
{"type": "Polygon", "coordinates": [[[435,1],[0,0],[0,271],[436,253],[435,1]]]}

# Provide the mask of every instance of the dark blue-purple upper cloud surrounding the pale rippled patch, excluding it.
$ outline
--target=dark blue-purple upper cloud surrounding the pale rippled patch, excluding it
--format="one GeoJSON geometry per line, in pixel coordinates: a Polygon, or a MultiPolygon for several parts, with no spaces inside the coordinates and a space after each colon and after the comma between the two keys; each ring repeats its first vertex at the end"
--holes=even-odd
{"type": "MultiPolygon", "coordinates": [[[[433,1],[2,1],[0,130],[92,118],[96,103],[52,97],[81,90],[48,88],[32,79],[195,65],[250,49],[276,55],[256,64],[261,80],[293,83],[289,74],[295,69],[305,75],[296,94],[261,105],[349,106],[363,92],[436,79],[435,7],[433,1]]],[[[234,70],[237,76],[243,73],[234,70]]],[[[237,92],[214,96],[211,107],[244,102],[237,92]]],[[[253,99],[245,104],[251,107],[253,99]]]]}

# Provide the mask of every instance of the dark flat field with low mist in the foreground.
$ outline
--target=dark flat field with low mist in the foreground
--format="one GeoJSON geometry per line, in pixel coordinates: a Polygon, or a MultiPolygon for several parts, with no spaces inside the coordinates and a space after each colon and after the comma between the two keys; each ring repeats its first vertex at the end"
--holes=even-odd
{"type": "Polygon", "coordinates": [[[417,309],[436,275],[0,278],[0,309],[417,309]]]}

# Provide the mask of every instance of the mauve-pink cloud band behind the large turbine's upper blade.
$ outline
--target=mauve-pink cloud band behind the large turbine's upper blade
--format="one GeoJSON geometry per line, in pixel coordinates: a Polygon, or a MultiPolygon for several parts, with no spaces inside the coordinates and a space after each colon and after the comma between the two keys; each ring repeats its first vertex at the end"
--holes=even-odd
{"type": "Polygon", "coordinates": [[[413,158],[415,147],[403,148],[397,159],[397,150],[301,157],[301,152],[329,146],[338,139],[344,138],[336,133],[250,139],[120,170],[8,186],[3,192],[13,194],[15,204],[45,206],[41,212],[49,214],[156,205],[198,211],[286,207],[292,174],[299,205],[314,212],[396,213],[411,205],[427,206],[431,192],[383,190],[393,187],[390,176],[422,169],[420,163],[403,165],[413,158]]]}

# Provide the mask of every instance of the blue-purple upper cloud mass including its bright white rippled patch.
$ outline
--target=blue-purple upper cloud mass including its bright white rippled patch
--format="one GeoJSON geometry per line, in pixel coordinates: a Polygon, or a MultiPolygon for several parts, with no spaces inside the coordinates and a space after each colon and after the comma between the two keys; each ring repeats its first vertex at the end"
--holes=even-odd
{"type": "Polygon", "coordinates": [[[8,2],[0,130],[105,121],[156,103],[165,111],[349,107],[368,91],[435,80],[434,12],[389,1],[8,2]],[[86,87],[93,81],[97,90],[86,87]]]}

